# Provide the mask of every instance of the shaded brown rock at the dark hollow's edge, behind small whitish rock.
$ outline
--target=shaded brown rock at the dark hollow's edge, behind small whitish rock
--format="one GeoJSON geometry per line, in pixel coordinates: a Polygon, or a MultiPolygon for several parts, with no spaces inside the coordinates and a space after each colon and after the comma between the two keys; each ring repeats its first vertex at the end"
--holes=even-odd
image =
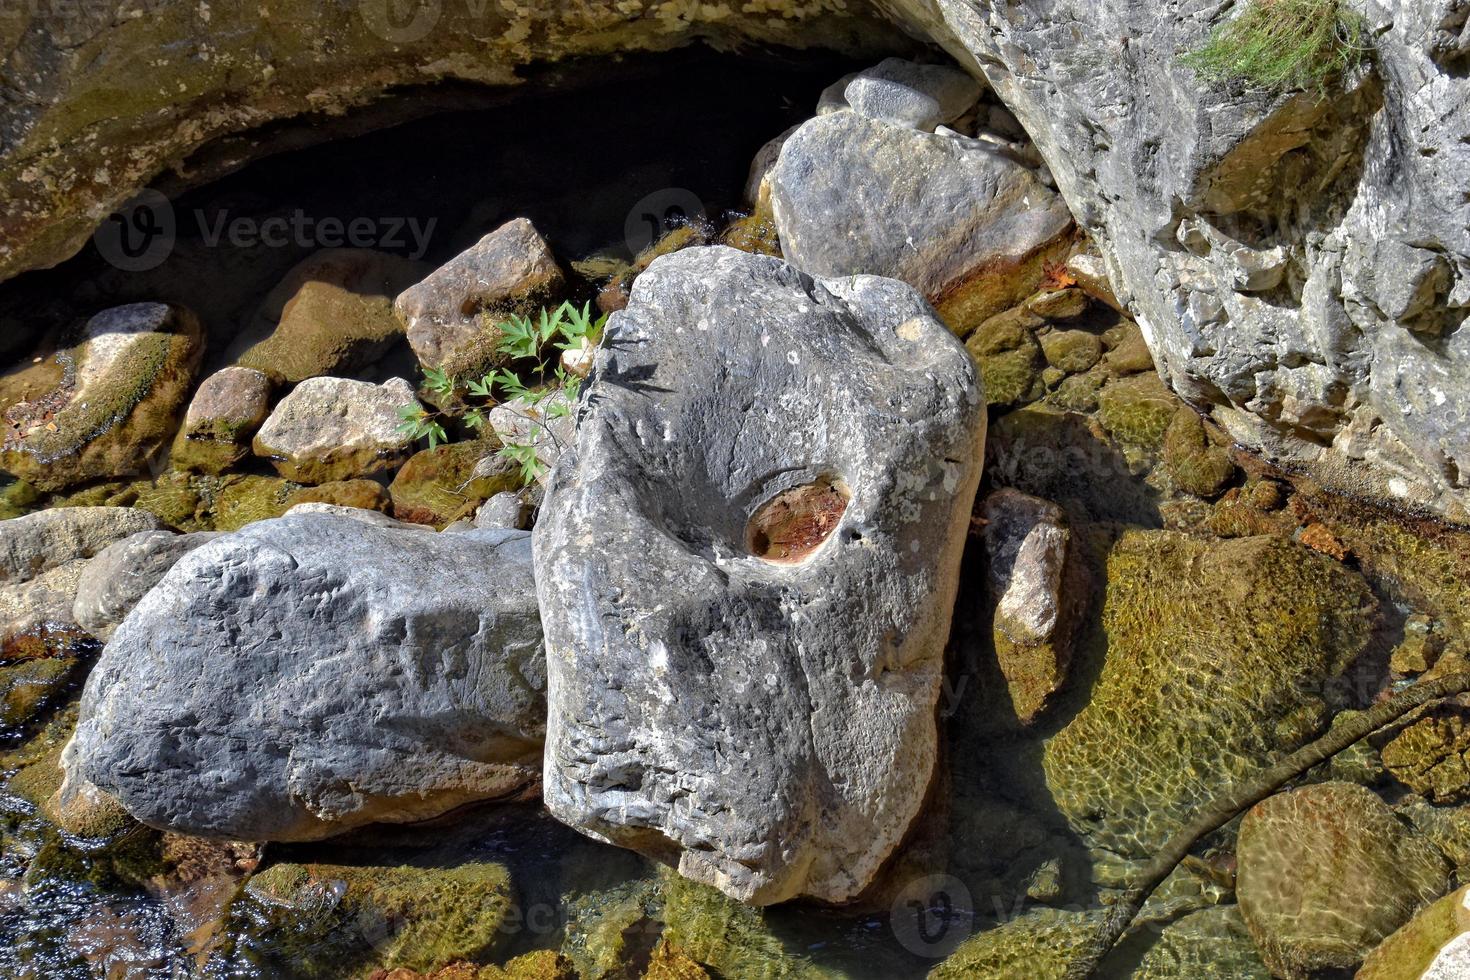
{"type": "Polygon", "coordinates": [[[370,248],[319,251],[266,294],[231,360],[288,383],[348,376],[403,338],[392,300],[425,272],[370,248]]]}

